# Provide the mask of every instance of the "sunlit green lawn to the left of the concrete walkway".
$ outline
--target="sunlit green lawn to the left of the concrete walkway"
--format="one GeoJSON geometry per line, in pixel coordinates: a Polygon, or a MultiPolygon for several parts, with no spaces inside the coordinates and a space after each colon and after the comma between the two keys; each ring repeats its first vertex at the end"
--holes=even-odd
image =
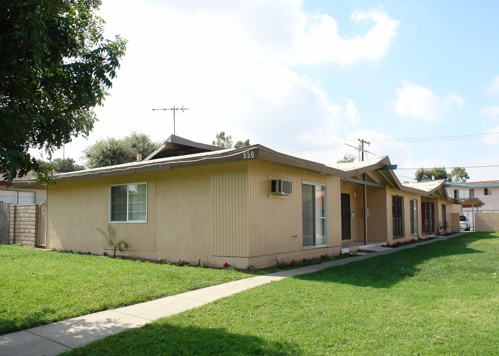
{"type": "Polygon", "coordinates": [[[247,277],[8,245],[0,266],[0,335],[247,277]]]}

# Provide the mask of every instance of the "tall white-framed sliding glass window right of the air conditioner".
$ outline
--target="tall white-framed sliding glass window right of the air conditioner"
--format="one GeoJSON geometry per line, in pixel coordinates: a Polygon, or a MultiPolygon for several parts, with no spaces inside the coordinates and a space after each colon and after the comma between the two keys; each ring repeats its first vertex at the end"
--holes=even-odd
{"type": "Polygon", "coordinates": [[[301,184],[303,247],[327,244],[327,197],[324,184],[301,184]]]}

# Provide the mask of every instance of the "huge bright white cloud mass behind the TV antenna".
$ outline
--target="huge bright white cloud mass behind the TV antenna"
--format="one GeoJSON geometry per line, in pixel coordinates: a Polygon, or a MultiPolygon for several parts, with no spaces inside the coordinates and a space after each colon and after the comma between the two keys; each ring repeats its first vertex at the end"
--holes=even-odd
{"type": "Polygon", "coordinates": [[[379,58],[399,24],[382,10],[356,11],[352,21],[368,29],[346,38],[334,18],[307,13],[301,0],[109,0],[99,15],[107,37],[128,39],[127,52],[88,141],[66,145],[76,160],[100,137],[131,130],[165,140],[172,112],[151,106],[190,108],[176,113],[175,131],[194,141],[210,143],[225,130],[281,151],[331,143],[359,121],[355,103],[328,98],[289,65],[379,58]]]}

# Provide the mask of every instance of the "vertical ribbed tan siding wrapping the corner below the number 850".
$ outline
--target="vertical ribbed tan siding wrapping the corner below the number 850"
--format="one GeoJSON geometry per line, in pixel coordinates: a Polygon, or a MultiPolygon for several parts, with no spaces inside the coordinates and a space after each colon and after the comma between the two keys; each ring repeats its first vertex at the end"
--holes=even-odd
{"type": "Polygon", "coordinates": [[[302,181],[327,184],[328,246],[341,245],[339,177],[261,160],[216,164],[213,177],[214,255],[302,250],[302,181]],[[269,177],[290,180],[293,193],[271,195],[269,177]]]}

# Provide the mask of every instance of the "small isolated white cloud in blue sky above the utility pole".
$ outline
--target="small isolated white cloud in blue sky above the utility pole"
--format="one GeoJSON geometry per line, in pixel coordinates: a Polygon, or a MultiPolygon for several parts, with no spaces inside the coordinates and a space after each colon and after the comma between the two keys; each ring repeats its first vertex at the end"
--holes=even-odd
{"type": "Polygon", "coordinates": [[[464,99],[456,93],[446,97],[435,95],[430,89],[402,81],[402,88],[395,89],[394,104],[398,116],[409,116],[426,122],[442,121],[463,107],[464,99]]]}

